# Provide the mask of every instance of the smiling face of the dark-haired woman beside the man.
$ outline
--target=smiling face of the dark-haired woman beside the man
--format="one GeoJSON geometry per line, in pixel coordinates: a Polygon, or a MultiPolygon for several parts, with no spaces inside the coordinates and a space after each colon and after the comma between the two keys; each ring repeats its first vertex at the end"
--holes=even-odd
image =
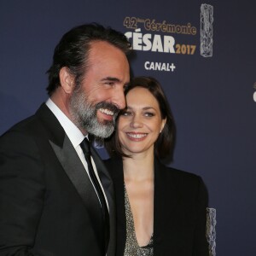
{"type": "Polygon", "coordinates": [[[166,124],[159,103],[151,92],[136,87],[126,95],[125,110],[119,116],[119,142],[125,154],[154,153],[154,143],[166,124]]]}

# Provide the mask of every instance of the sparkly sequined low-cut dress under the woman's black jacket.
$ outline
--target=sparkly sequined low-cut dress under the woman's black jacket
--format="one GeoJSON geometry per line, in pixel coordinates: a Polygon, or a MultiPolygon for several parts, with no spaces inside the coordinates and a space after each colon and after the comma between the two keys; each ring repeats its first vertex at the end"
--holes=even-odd
{"type": "Polygon", "coordinates": [[[126,241],[125,241],[124,256],[153,256],[154,255],[153,234],[150,237],[150,240],[147,246],[140,247],[137,243],[134,221],[133,221],[133,216],[131,212],[131,205],[128,199],[126,189],[125,189],[125,217],[126,217],[126,241]]]}

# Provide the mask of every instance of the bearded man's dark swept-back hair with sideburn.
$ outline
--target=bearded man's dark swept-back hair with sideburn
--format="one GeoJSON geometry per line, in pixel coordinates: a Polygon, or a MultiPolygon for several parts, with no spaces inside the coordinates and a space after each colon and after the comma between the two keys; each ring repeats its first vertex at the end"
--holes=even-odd
{"type": "Polygon", "coordinates": [[[60,43],[55,47],[53,63],[47,71],[49,96],[61,85],[59,73],[62,67],[67,67],[69,72],[73,74],[75,83],[80,84],[84,78],[84,72],[86,73],[86,67],[88,67],[90,46],[96,41],[108,42],[122,50],[125,55],[128,55],[131,50],[131,44],[125,35],[111,27],[104,27],[97,23],[73,27],[64,34],[60,43]]]}

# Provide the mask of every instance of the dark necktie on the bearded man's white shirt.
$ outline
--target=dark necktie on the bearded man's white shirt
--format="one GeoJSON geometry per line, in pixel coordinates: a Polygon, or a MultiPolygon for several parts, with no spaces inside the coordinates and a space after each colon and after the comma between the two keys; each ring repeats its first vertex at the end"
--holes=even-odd
{"type": "Polygon", "coordinates": [[[99,200],[100,200],[100,203],[101,203],[102,219],[103,219],[103,222],[104,222],[104,233],[105,233],[105,253],[107,253],[108,241],[109,241],[109,214],[108,214],[107,202],[105,200],[105,196],[102,192],[101,185],[100,185],[100,183],[99,183],[99,181],[96,177],[96,174],[93,170],[93,166],[91,164],[90,143],[89,143],[89,141],[86,137],[84,138],[84,141],[80,144],[80,146],[83,149],[84,157],[85,157],[85,160],[86,160],[87,165],[88,165],[88,171],[89,171],[90,179],[91,179],[92,183],[95,186],[96,193],[97,193],[97,195],[99,197],[99,200]]]}

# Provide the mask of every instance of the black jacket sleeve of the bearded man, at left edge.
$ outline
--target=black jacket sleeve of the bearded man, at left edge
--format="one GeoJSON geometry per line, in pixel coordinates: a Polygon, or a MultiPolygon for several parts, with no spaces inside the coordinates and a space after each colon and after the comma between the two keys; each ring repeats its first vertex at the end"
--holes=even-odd
{"type": "Polygon", "coordinates": [[[32,247],[44,205],[43,169],[31,137],[0,137],[0,256],[38,255],[32,247]]]}

